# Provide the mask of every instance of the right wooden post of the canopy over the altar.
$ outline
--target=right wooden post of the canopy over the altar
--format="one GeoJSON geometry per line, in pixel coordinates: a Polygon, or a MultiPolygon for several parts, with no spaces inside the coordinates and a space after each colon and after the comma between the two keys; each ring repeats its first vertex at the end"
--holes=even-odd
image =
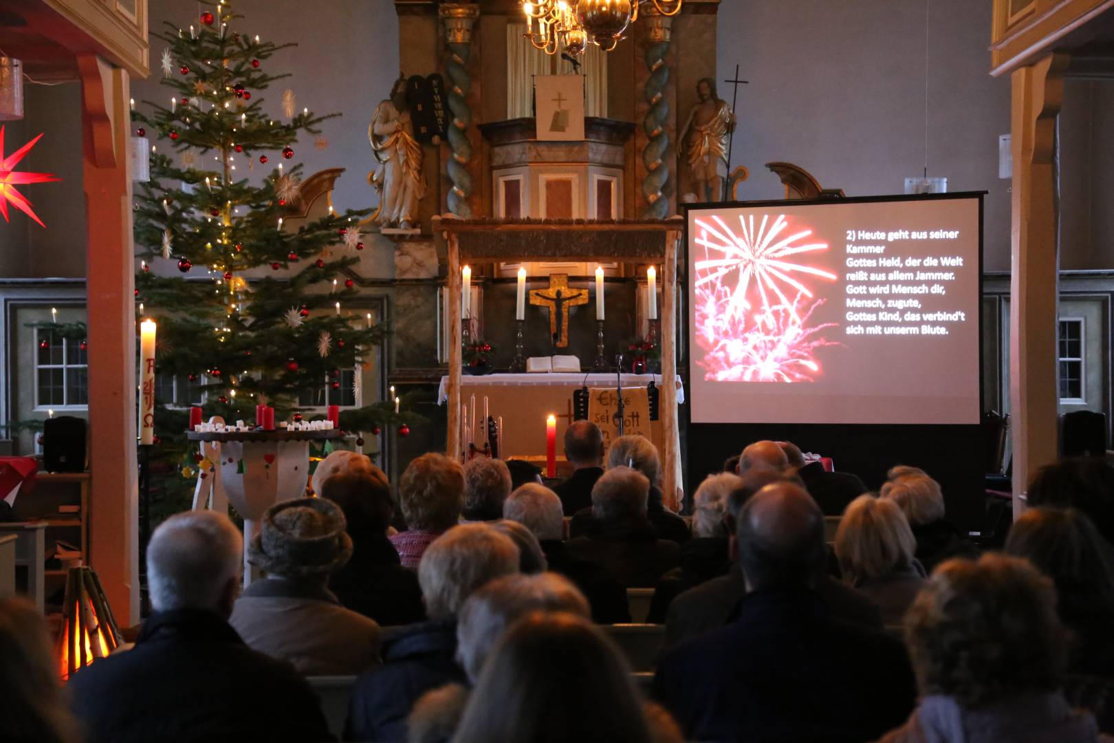
{"type": "Polygon", "coordinates": [[[677,462],[680,433],[677,429],[677,242],[681,231],[665,233],[665,265],[662,276],[662,390],[658,410],[662,417],[662,500],[678,510],[677,462]]]}

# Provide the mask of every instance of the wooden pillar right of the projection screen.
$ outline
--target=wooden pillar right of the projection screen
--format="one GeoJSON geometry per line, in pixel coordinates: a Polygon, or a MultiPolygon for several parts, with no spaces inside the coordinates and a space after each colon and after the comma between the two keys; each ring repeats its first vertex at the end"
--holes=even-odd
{"type": "Polygon", "coordinates": [[[1055,148],[1067,62],[1065,55],[1049,55],[1013,74],[1009,402],[1015,518],[1024,509],[1022,496],[1033,472],[1058,453],[1055,148]]]}

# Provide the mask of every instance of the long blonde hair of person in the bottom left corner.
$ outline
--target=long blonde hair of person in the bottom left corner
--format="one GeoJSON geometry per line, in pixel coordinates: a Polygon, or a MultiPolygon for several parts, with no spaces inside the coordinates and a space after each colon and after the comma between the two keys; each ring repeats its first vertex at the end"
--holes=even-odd
{"type": "Polygon", "coordinates": [[[0,599],[0,741],[80,740],[59,678],[42,616],[22,598],[0,599]]]}

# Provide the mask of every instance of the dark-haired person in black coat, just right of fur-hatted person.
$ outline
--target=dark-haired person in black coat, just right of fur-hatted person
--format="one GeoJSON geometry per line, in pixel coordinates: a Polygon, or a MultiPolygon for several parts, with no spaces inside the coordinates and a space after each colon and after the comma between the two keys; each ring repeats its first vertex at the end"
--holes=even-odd
{"type": "Polygon", "coordinates": [[[383,471],[345,471],[321,483],[322,498],[341,507],[352,538],[352,558],[329,579],[329,589],[341,605],[370,617],[380,626],[421,622],[418,574],[402,567],[399,553],[387,538],[394,511],[391,485],[383,471]]]}

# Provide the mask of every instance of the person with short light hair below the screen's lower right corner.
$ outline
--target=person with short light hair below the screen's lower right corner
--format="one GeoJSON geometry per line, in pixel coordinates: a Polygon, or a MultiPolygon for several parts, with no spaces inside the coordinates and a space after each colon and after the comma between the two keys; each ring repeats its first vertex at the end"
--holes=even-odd
{"type": "Polygon", "coordinates": [[[940,483],[918,467],[898,465],[887,472],[879,497],[892,500],[906,515],[917,540],[916,557],[931,573],[950,557],[978,557],[973,541],[964,539],[945,515],[940,483]]]}

